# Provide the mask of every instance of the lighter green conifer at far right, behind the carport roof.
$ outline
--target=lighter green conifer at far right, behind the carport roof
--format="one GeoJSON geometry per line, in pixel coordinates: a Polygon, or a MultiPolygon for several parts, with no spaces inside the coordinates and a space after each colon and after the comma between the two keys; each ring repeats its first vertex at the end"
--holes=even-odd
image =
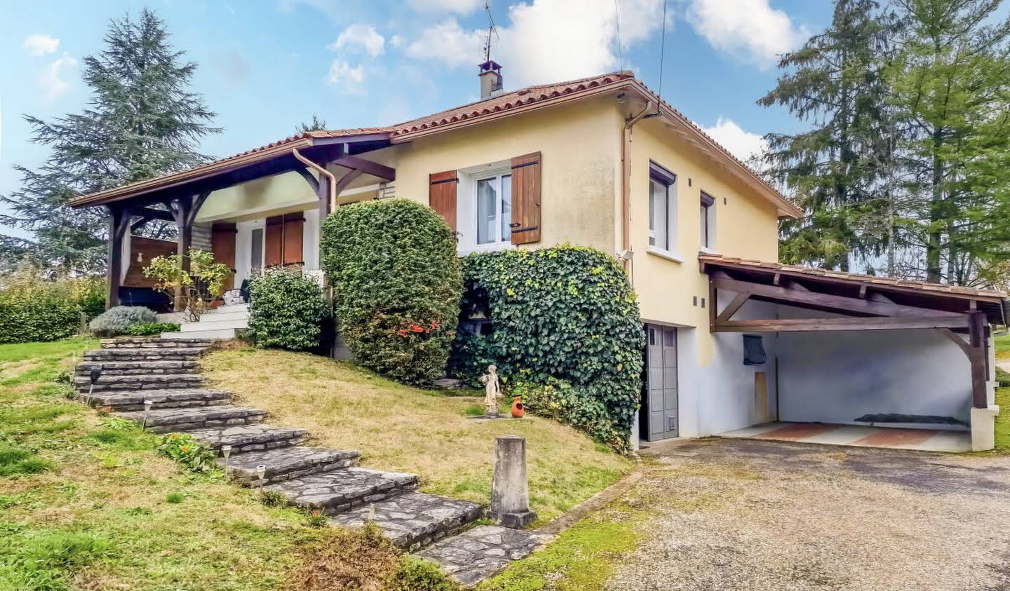
{"type": "Polygon", "coordinates": [[[888,72],[908,122],[900,151],[918,196],[927,281],[991,282],[1010,257],[1010,20],[1000,0],[898,0],[905,34],[888,72]]]}

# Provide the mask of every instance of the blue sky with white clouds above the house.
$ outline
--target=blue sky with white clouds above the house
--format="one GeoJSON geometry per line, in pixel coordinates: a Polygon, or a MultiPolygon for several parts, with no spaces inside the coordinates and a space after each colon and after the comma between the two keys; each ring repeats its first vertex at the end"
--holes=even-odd
{"type": "MultiPolygon", "coordinates": [[[[289,135],[313,113],[331,128],[369,126],[478,98],[483,0],[0,0],[0,193],[18,186],[11,165],[46,156],[20,115],[80,110],[81,59],[100,51],[110,18],[144,5],[200,66],[194,89],[224,128],[201,146],[214,157],[289,135]]],[[[491,10],[506,89],[622,67],[660,86],[663,0],[493,0],[491,10]]],[[[775,84],[775,56],[828,22],[828,0],[668,0],[667,11],[665,99],[740,156],[767,131],[798,128],[754,101],[775,84]]]]}

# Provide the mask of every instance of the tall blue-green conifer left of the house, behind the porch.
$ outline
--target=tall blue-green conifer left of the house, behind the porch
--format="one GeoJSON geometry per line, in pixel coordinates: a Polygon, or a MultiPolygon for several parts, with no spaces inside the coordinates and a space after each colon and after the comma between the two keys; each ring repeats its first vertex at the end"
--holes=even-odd
{"type": "MultiPolygon", "coordinates": [[[[21,188],[0,196],[10,209],[0,223],[33,232],[28,250],[36,261],[78,272],[102,270],[106,213],[71,210],[64,203],[207,160],[196,144],[220,130],[210,126],[215,114],[188,90],[196,64],[184,62],[169,36],[164,21],[147,9],[135,20],[112,20],[105,48],[83,61],[83,79],[92,90],[88,107],[52,121],[25,117],[32,140],[52,154],[37,170],[15,167],[21,188]]],[[[7,254],[25,249],[16,238],[4,238],[0,248],[9,247],[7,254]]]]}

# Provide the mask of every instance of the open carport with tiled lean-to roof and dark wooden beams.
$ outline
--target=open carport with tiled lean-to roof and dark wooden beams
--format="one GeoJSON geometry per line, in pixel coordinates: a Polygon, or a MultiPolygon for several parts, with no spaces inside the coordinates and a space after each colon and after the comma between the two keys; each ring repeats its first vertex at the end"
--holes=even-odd
{"type": "Polygon", "coordinates": [[[762,426],[726,435],[919,445],[926,431],[951,431],[933,439],[947,442],[961,431],[971,449],[992,449],[992,332],[1006,326],[1005,293],[718,255],[699,261],[711,332],[767,338],[774,352],[762,426]],[[881,431],[895,427],[919,432],[881,431]]]}

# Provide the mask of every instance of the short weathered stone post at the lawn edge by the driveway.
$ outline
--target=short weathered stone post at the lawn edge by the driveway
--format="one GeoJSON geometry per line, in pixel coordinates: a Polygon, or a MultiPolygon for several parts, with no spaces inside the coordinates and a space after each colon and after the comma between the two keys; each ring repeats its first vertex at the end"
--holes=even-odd
{"type": "Polygon", "coordinates": [[[536,520],[529,510],[526,482],[526,437],[495,437],[495,475],[491,481],[491,518],[505,527],[520,528],[536,520]]]}

